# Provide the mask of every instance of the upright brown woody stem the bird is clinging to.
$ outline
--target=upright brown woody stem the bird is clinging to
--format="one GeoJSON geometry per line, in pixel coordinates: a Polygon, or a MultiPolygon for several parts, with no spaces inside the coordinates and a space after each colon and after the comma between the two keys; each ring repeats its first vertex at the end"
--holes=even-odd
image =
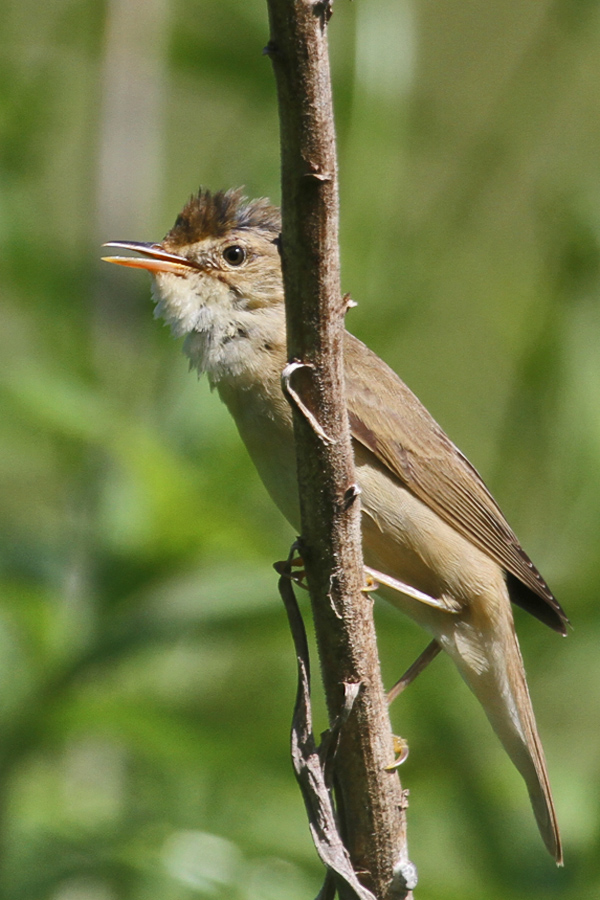
{"type": "MultiPolygon", "coordinates": [[[[364,584],[359,491],[344,402],[335,132],[327,50],[331,4],[267,0],[282,155],[282,265],[303,558],[330,721],[344,684],[362,689],[344,726],[336,775],[359,878],[378,900],[407,897],[405,803],[394,760],[364,584]]],[[[414,874],[414,872],[413,872],[414,874]]],[[[414,882],[413,882],[414,883],[414,882]]]]}

